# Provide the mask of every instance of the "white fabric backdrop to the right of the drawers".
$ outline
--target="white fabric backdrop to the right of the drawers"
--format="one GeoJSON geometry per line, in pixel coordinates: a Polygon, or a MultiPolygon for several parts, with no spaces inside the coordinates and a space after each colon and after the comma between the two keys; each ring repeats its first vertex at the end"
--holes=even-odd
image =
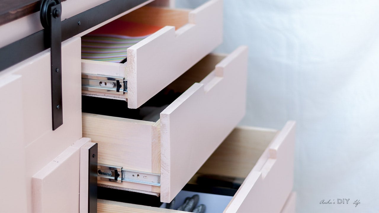
{"type": "Polygon", "coordinates": [[[249,47],[241,124],[297,121],[297,211],[379,212],[379,1],[224,0],[216,52],[238,45],[249,47]]]}

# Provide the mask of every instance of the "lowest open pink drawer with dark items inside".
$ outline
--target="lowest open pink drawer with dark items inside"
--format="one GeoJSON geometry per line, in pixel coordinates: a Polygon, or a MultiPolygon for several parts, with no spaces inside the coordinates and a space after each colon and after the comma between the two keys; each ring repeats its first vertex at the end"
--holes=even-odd
{"type": "MultiPolygon", "coordinates": [[[[196,176],[207,174],[242,178],[244,181],[234,196],[229,199],[230,202],[226,199],[226,203],[222,203],[223,198],[221,197],[208,199],[211,202],[218,202],[217,210],[212,209],[212,204],[202,200],[205,196],[202,193],[199,193],[198,205],[205,204],[206,212],[221,212],[222,209],[224,212],[260,213],[288,210],[288,206],[294,203],[293,196],[291,196],[294,139],[294,121],[288,121],[280,131],[254,127],[235,128],[194,175],[193,179],[196,179],[196,176]]],[[[193,182],[193,179],[190,182],[193,182]]],[[[185,197],[182,196],[182,200],[179,200],[179,196],[175,198],[176,208],[183,203],[185,197]]],[[[127,199],[125,200],[127,201],[127,199]]],[[[99,200],[98,211],[182,212],[106,200],[99,200]]]]}

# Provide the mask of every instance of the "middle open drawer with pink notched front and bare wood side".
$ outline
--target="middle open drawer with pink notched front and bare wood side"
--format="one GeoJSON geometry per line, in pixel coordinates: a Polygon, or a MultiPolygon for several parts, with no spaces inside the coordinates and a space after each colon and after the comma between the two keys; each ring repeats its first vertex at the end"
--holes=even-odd
{"type": "Polygon", "coordinates": [[[246,72],[246,47],[206,56],[168,86],[183,93],[157,122],[83,113],[83,137],[99,144],[100,164],[160,174],[160,187],[99,184],[160,193],[170,202],[244,116],[246,72]]]}

